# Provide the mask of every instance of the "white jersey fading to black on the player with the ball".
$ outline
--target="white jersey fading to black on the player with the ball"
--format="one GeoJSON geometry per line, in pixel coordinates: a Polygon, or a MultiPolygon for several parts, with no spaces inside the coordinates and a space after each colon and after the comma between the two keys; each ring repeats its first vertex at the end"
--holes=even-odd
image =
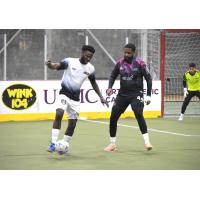
{"type": "Polygon", "coordinates": [[[80,63],[79,58],[65,58],[61,61],[60,69],[64,69],[60,93],[78,101],[80,88],[88,76],[94,74],[94,66],[80,63]]]}

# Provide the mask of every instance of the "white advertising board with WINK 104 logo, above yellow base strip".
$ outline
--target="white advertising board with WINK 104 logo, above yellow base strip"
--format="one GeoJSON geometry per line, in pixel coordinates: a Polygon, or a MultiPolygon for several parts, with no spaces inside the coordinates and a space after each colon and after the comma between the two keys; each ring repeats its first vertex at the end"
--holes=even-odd
{"type": "MultiPolygon", "coordinates": [[[[106,95],[107,80],[97,81],[99,88],[110,107],[103,106],[99,97],[92,89],[89,81],[85,81],[81,88],[81,112],[110,112],[119,91],[119,81],[116,81],[111,96],[106,95]]],[[[146,93],[146,82],[144,83],[146,93]]],[[[61,88],[60,81],[1,81],[0,114],[16,113],[53,113],[57,108],[57,97],[61,88]]],[[[148,111],[161,110],[161,82],[153,81],[152,103],[145,106],[148,111]]],[[[128,108],[128,110],[131,110],[128,108]]]]}

